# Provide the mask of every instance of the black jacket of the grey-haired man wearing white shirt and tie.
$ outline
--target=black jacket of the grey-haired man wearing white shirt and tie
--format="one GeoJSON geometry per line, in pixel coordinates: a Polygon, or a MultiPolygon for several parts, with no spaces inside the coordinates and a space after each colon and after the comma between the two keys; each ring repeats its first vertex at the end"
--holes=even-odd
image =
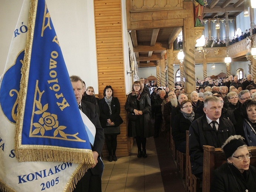
{"type": "Polygon", "coordinates": [[[229,136],[235,135],[235,128],[230,120],[220,117],[219,128],[216,131],[208,124],[204,114],[192,122],[188,134],[191,171],[192,174],[201,174],[204,158],[203,145],[221,147],[229,136]]]}

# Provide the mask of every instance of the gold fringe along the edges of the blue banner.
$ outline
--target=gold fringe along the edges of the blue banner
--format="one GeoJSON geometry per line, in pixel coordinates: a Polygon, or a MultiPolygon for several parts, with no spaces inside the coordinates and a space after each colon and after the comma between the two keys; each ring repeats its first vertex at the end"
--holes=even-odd
{"type": "Polygon", "coordinates": [[[17,120],[14,139],[14,148],[16,157],[19,162],[25,161],[61,161],[73,162],[83,165],[86,170],[95,164],[93,160],[92,150],[78,150],[72,148],[48,147],[39,148],[38,146],[30,146],[29,149],[23,149],[21,146],[21,133],[23,127],[24,110],[27,95],[28,76],[31,61],[31,50],[33,46],[35,18],[37,14],[38,0],[31,0],[30,13],[28,17],[28,31],[25,45],[25,54],[23,65],[21,68],[20,92],[18,94],[17,120]]]}

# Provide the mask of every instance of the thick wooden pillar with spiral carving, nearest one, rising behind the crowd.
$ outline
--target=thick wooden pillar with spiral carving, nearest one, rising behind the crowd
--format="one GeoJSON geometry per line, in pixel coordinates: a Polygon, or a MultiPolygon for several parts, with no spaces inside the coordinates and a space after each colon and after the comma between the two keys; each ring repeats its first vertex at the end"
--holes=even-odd
{"type": "MultiPolygon", "coordinates": [[[[192,3],[192,2],[184,2],[192,3]]],[[[195,90],[195,34],[194,34],[194,18],[185,18],[182,34],[184,35],[185,43],[183,42],[184,51],[184,86],[185,92],[191,93],[195,90]]]]}

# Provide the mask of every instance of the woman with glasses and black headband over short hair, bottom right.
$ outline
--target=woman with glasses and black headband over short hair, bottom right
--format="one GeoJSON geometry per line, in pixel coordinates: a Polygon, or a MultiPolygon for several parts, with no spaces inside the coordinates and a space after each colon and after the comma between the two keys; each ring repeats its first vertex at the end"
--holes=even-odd
{"type": "Polygon", "coordinates": [[[222,145],[227,162],[214,171],[210,192],[256,191],[256,168],[243,137],[230,136],[222,145]]]}

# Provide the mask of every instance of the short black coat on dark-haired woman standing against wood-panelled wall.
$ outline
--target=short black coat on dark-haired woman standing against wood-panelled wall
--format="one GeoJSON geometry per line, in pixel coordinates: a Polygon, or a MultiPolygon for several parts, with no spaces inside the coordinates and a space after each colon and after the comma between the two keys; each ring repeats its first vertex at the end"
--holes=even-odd
{"type": "Polygon", "coordinates": [[[123,123],[122,118],[120,117],[120,103],[117,97],[112,96],[111,102],[111,111],[112,114],[109,114],[109,106],[106,103],[105,99],[99,101],[99,110],[100,110],[100,124],[103,128],[107,127],[107,119],[110,119],[112,122],[115,122],[115,126],[119,126],[123,123]]]}

